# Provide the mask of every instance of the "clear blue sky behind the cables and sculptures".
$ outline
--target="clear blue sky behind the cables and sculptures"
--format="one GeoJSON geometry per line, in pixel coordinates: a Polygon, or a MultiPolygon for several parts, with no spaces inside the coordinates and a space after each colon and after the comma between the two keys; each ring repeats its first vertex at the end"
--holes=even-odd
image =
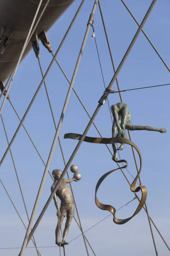
{"type": "MultiPolygon", "coordinates": [[[[126,0],[125,2],[137,20],[141,22],[152,1],[126,0]]],[[[65,34],[79,3],[79,0],[75,1],[48,32],[48,37],[54,52],[59,46],[59,43],[65,34]]],[[[77,21],[74,23],[74,26],[58,55],[58,61],[70,80],[74,71],[93,3],[94,1],[85,1],[77,21]]],[[[101,6],[105,17],[106,27],[108,29],[108,36],[110,39],[115,66],[118,67],[127,47],[138,29],[138,26],[132,17],[130,17],[120,0],[101,0],[101,6]]],[[[150,14],[150,17],[144,25],[144,31],[170,66],[170,60],[168,58],[170,52],[170,36],[168,33],[170,27],[169,9],[170,2],[168,0],[158,0],[150,14]]],[[[108,85],[113,77],[113,68],[98,7],[95,14],[94,28],[105,83],[108,85]]],[[[79,66],[77,78],[74,83],[74,88],[77,90],[77,93],[87,107],[89,113],[93,114],[97,106],[97,102],[104,91],[104,86],[96,54],[94,38],[91,37],[91,34],[92,29],[88,36],[88,41],[79,66]]],[[[42,67],[45,72],[51,62],[51,55],[42,47],[42,44],[40,44],[40,57],[42,67]]],[[[122,67],[118,79],[121,89],[170,83],[168,70],[142,33],[139,35],[130,55],[122,67]]],[[[9,93],[11,101],[21,117],[25,113],[37,86],[40,84],[40,81],[41,73],[38,67],[38,62],[35,58],[34,52],[31,51],[18,68],[17,75],[9,93]]],[[[55,63],[48,74],[46,84],[56,122],[58,123],[62,111],[62,105],[65,101],[65,96],[68,90],[68,82],[55,63]]],[[[116,83],[113,84],[112,88],[113,90],[117,89],[116,83]]],[[[168,166],[170,143],[169,93],[170,87],[168,86],[122,93],[124,102],[129,105],[131,119],[134,125],[151,125],[157,128],[167,129],[167,134],[159,134],[149,131],[131,132],[132,140],[136,145],[138,145],[143,157],[141,179],[142,183],[147,187],[148,210],[150,216],[155,221],[167,243],[170,242],[170,172],[168,166]]],[[[109,101],[111,105],[119,102],[119,95],[110,95],[109,101]]],[[[3,118],[8,136],[11,139],[19,121],[8,102],[6,102],[3,109],[3,118]]],[[[66,161],[71,156],[72,151],[77,145],[77,141],[63,139],[64,134],[68,132],[81,134],[88,124],[88,121],[88,116],[72,92],[68,108],[65,113],[65,119],[62,124],[62,129],[60,131],[60,139],[66,161]]],[[[103,137],[111,137],[112,125],[107,104],[101,108],[95,119],[95,123],[103,137]]],[[[46,162],[54,138],[55,129],[44,87],[41,88],[24,124],[46,162]]],[[[7,147],[2,124],[0,124],[0,134],[0,156],[2,157],[7,147]]],[[[98,136],[93,126],[88,132],[88,135],[94,137],[98,136]]],[[[28,212],[29,215],[31,215],[42,178],[42,173],[44,172],[44,166],[23,128],[20,129],[11,150],[14,155],[28,212]]],[[[121,158],[128,161],[128,170],[133,176],[135,176],[136,168],[130,146],[125,146],[124,151],[121,152],[121,158]]],[[[96,222],[109,215],[109,212],[102,211],[96,207],[94,202],[94,190],[99,177],[101,177],[105,172],[116,168],[116,163],[113,163],[111,160],[111,154],[108,152],[105,145],[94,145],[88,143],[82,143],[73,163],[79,166],[79,172],[82,174],[82,180],[78,183],[73,183],[73,189],[82,220],[83,230],[87,230],[89,227],[96,224],[96,222]]],[[[50,171],[56,168],[64,168],[58,143],[51,161],[50,171]]],[[[133,179],[127,171],[126,175],[130,182],[132,182],[133,179]]],[[[1,166],[0,177],[25,223],[28,224],[9,153],[1,166]]],[[[35,219],[37,219],[50,195],[51,184],[52,180],[48,175],[35,219]]],[[[0,195],[0,247],[20,247],[23,243],[26,231],[2,186],[0,186],[0,195]]],[[[130,187],[125,178],[119,171],[110,175],[110,177],[105,180],[99,190],[98,196],[103,203],[112,204],[116,209],[126,204],[134,197],[133,193],[130,192],[130,187]]],[[[137,200],[133,201],[127,207],[124,207],[122,210],[117,212],[116,215],[119,218],[126,218],[132,215],[137,204],[137,200]]],[[[122,256],[125,255],[125,253],[131,256],[135,256],[136,253],[138,253],[139,256],[155,255],[147,215],[144,210],[141,210],[136,217],[125,225],[116,225],[113,223],[112,219],[112,217],[109,217],[107,220],[103,221],[101,224],[86,233],[87,238],[91,242],[97,256],[103,256],[104,254],[111,255],[112,252],[114,252],[116,256],[122,256]]],[[[55,246],[56,225],[56,208],[52,201],[35,232],[35,238],[38,246],[55,246]]],[[[169,255],[167,247],[165,247],[154,227],[153,232],[159,255],[169,255]]],[[[73,220],[67,241],[71,241],[79,234],[80,230],[73,220]]],[[[29,243],[29,246],[33,246],[32,242],[29,243]]],[[[19,252],[19,249],[0,251],[3,256],[17,256],[19,252]]],[[[57,247],[40,248],[40,252],[42,256],[53,254],[59,255],[59,249],[57,247]]],[[[90,255],[93,255],[90,249],[89,252],[90,255]]],[[[36,250],[26,249],[25,256],[30,254],[32,256],[36,256],[36,250]]],[[[66,255],[86,255],[82,237],[72,241],[66,247],[66,255]]]]}

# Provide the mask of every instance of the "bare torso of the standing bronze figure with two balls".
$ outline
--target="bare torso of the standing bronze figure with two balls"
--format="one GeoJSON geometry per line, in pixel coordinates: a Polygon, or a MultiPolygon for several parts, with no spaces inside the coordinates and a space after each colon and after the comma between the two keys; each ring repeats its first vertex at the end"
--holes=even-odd
{"type": "MultiPolygon", "coordinates": [[[[54,189],[57,181],[54,181],[52,185],[52,190],[54,189]]],[[[73,197],[71,195],[71,190],[69,189],[65,179],[62,180],[61,184],[59,185],[56,195],[61,200],[61,204],[74,204],[73,197]]]]}

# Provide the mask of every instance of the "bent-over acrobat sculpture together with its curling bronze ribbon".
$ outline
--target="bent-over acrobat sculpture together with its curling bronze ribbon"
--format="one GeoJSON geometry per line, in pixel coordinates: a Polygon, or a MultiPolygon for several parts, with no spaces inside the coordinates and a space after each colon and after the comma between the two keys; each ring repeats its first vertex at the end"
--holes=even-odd
{"type": "MultiPolygon", "coordinates": [[[[98,180],[98,182],[96,184],[96,189],[95,189],[95,202],[96,202],[97,207],[99,207],[102,210],[107,210],[107,211],[111,212],[113,214],[113,221],[116,224],[125,224],[127,221],[129,221],[131,218],[133,218],[142,209],[142,207],[145,204],[146,198],[147,198],[146,187],[143,185],[136,187],[136,182],[139,178],[139,175],[140,175],[140,172],[142,169],[142,155],[141,155],[141,152],[139,151],[139,148],[135,145],[135,143],[133,143],[131,140],[128,140],[126,138],[125,130],[126,129],[131,130],[131,131],[147,130],[147,131],[159,131],[161,133],[164,133],[164,132],[166,132],[166,129],[159,129],[159,128],[154,128],[154,127],[150,127],[150,126],[132,125],[131,120],[130,120],[130,111],[129,111],[128,106],[125,103],[117,103],[115,105],[112,105],[111,112],[113,113],[113,119],[114,119],[113,127],[112,127],[112,138],[96,138],[96,137],[86,136],[84,138],[84,141],[89,142],[89,143],[112,144],[113,151],[114,151],[112,160],[114,160],[117,163],[125,163],[124,166],[116,168],[114,170],[111,170],[110,172],[107,172],[104,175],[102,175],[102,177],[98,180]],[[118,134],[117,134],[117,132],[118,132],[118,134]],[[139,160],[140,160],[139,172],[136,175],[136,177],[134,178],[134,180],[130,186],[130,190],[134,193],[141,191],[142,197],[141,197],[141,200],[139,201],[139,205],[138,205],[136,211],[133,213],[133,215],[130,216],[129,218],[125,218],[125,219],[116,218],[115,217],[116,209],[111,205],[100,203],[97,198],[97,195],[96,195],[97,191],[99,189],[99,186],[101,185],[102,181],[108,175],[110,175],[112,172],[115,172],[116,170],[124,169],[127,167],[126,160],[117,160],[116,143],[121,144],[118,150],[123,150],[125,144],[133,146],[133,148],[136,149],[136,151],[139,155],[139,160]]],[[[82,136],[81,134],[69,133],[69,134],[65,134],[64,138],[80,140],[81,136],[82,136]]]]}

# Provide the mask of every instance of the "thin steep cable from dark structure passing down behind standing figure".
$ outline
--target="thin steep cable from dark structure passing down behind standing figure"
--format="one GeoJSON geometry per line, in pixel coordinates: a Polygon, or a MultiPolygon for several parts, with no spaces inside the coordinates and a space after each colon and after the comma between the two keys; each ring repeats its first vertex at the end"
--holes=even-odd
{"type": "MultiPolygon", "coordinates": [[[[41,71],[42,77],[43,77],[44,74],[43,74],[43,71],[42,71],[42,65],[41,65],[41,62],[40,62],[40,57],[38,58],[38,63],[39,63],[39,66],[40,66],[40,71],[41,71]]],[[[44,81],[44,86],[45,86],[45,91],[46,91],[49,107],[50,107],[50,110],[51,110],[51,116],[52,116],[52,119],[53,119],[53,122],[54,122],[54,127],[55,127],[55,130],[57,131],[57,125],[56,125],[56,121],[55,121],[55,118],[54,118],[54,113],[53,113],[53,109],[52,109],[52,106],[51,106],[51,101],[50,101],[50,97],[49,97],[49,94],[48,94],[48,90],[47,90],[47,86],[46,86],[45,81],[44,81]]],[[[63,154],[63,151],[62,151],[62,145],[61,145],[61,141],[60,141],[59,137],[58,137],[58,140],[59,140],[59,147],[60,147],[60,150],[61,150],[61,153],[62,153],[62,158],[63,158],[64,164],[66,165],[65,157],[64,157],[64,154],[63,154]]],[[[69,179],[68,172],[67,172],[67,176],[68,176],[68,179],[69,179]]],[[[77,209],[77,204],[76,204],[76,201],[75,201],[75,198],[74,198],[74,193],[73,193],[71,183],[70,183],[70,188],[71,188],[71,193],[72,193],[72,196],[73,196],[73,199],[74,199],[74,204],[75,204],[75,207],[76,207],[77,216],[78,216],[78,219],[79,219],[79,224],[80,224],[82,235],[83,235],[82,224],[81,224],[81,221],[80,221],[80,218],[79,218],[79,212],[78,212],[78,209],[77,209]]],[[[60,230],[61,230],[61,226],[60,226],[60,230]]],[[[85,243],[85,248],[86,248],[87,254],[89,256],[88,247],[87,247],[84,235],[83,235],[83,240],[84,240],[84,243],[85,243]]],[[[63,249],[64,249],[64,247],[63,247],[63,249]]]]}

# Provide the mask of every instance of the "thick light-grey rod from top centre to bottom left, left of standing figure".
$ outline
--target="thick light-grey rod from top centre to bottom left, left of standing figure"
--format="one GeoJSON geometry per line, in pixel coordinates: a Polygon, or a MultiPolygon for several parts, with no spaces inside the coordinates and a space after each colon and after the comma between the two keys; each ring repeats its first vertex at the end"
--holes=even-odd
{"type": "MultiPolygon", "coordinates": [[[[94,15],[94,12],[95,12],[95,9],[96,9],[97,0],[95,2],[96,3],[94,4],[94,8],[92,10],[92,15],[94,15]]],[[[25,239],[23,241],[23,246],[22,246],[22,249],[21,249],[21,252],[20,252],[20,256],[23,256],[24,251],[26,249],[26,246],[28,244],[28,236],[32,232],[31,231],[31,226],[32,226],[33,221],[34,221],[34,217],[35,217],[35,214],[36,214],[36,211],[37,211],[37,206],[38,206],[39,201],[40,201],[40,195],[42,193],[42,189],[43,189],[43,186],[44,186],[44,183],[45,183],[45,178],[46,178],[46,175],[47,175],[47,172],[48,172],[48,168],[49,168],[50,163],[51,163],[51,158],[52,158],[53,153],[54,153],[54,149],[55,149],[55,146],[56,146],[56,143],[57,143],[57,139],[58,139],[58,136],[59,136],[59,131],[60,131],[60,128],[62,126],[62,122],[63,122],[64,115],[65,115],[65,111],[66,111],[66,108],[67,108],[67,105],[68,105],[68,101],[69,101],[70,96],[71,96],[71,90],[72,90],[72,87],[73,87],[73,84],[74,84],[74,80],[75,80],[76,75],[77,75],[79,63],[80,63],[80,60],[81,60],[81,57],[82,57],[82,53],[83,53],[83,50],[84,50],[84,47],[85,47],[85,43],[86,43],[87,38],[88,38],[88,33],[89,33],[89,30],[90,30],[90,27],[91,27],[91,23],[89,23],[89,22],[90,21],[88,21],[88,26],[87,26],[87,29],[86,29],[86,32],[85,32],[85,37],[84,37],[83,42],[82,42],[82,47],[81,47],[80,52],[79,52],[79,57],[77,59],[77,64],[76,64],[76,67],[75,67],[75,70],[74,70],[74,74],[73,74],[73,77],[72,77],[71,85],[70,85],[70,87],[68,89],[68,93],[67,93],[67,96],[65,98],[65,103],[63,105],[62,113],[61,113],[61,116],[60,116],[60,119],[59,119],[59,123],[58,123],[58,126],[57,126],[57,131],[56,131],[56,134],[54,136],[54,140],[53,140],[53,143],[52,143],[52,146],[51,146],[50,154],[48,156],[48,160],[47,160],[47,164],[46,164],[46,167],[45,167],[45,171],[44,171],[44,174],[42,176],[42,181],[41,181],[40,188],[39,188],[39,191],[38,191],[38,194],[37,194],[37,198],[36,198],[36,201],[35,201],[35,204],[34,204],[34,208],[33,208],[32,214],[31,214],[30,222],[28,224],[28,229],[27,229],[27,232],[26,232],[26,236],[25,236],[25,239]]],[[[56,54],[55,54],[55,58],[56,58],[56,54]]],[[[52,63],[53,62],[54,62],[54,58],[53,58],[52,63]]],[[[43,82],[45,81],[45,76],[42,79],[42,81],[43,82]]],[[[57,184],[58,184],[58,182],[57,182],[57,184]]]]}

